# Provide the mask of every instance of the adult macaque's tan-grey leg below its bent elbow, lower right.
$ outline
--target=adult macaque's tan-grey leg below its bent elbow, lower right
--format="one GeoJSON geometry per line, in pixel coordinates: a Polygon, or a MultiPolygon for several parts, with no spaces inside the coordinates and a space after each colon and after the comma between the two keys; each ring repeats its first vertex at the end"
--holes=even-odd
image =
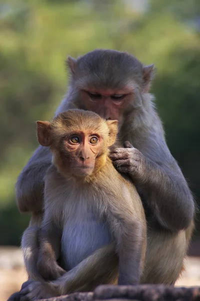
{"type": "Polygon", "coordinates": [[[140,283],[174,284],[184,269],[185,231],[148,229],[145,265],[140,283]]]}

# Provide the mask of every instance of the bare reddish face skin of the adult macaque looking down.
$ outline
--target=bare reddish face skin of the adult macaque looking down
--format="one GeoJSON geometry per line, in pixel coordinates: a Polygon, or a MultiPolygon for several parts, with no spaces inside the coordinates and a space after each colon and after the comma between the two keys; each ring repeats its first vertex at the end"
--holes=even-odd
{"type": "Polygon", "coordinates": [[[118,120],[122,124],[122,110],[127,107],[133,97],[130,88],[121,90],[86,89],[81,90],[84,107],[106,120],[118,120]]]}

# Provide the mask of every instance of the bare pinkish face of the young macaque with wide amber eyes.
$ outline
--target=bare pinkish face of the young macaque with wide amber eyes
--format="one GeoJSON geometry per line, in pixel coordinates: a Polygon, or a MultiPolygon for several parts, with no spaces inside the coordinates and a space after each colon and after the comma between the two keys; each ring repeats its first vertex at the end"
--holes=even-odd
{"type": "Polygon", "coordinates": [[[63,153],[60,154],[60,157],[72,174],[91,175],[101,146],[102,138],[99,135],[77,131],[67,134],[66,138],[62,140],[63,153]]]}

